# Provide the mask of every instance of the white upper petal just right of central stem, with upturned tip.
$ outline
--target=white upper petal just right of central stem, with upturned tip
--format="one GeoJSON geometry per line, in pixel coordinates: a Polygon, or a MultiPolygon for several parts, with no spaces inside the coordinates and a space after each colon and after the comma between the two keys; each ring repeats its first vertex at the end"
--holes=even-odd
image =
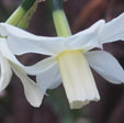
{"type": "Polygon", "coordinates": [[[100,20],[91,27],[68,37],[68,48],[89,51],[93,47],[101,47],[101,44],[98,41],[98,34],[104,23],[104,20],[100,20]]]}

